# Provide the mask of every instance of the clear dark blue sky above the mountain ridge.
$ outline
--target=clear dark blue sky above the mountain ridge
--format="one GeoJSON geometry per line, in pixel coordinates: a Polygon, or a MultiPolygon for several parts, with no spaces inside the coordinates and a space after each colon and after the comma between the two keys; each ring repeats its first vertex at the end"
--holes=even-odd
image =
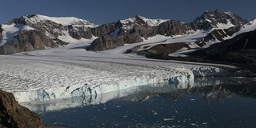
{"type": "Polygon", "coordinates": [[[256,17],[256,0],[2,0],[0,23],[25,14],[74,16],[96,24],[139,14],[192,22],[205,10],[229,10],[242,18],[256,17]]]}

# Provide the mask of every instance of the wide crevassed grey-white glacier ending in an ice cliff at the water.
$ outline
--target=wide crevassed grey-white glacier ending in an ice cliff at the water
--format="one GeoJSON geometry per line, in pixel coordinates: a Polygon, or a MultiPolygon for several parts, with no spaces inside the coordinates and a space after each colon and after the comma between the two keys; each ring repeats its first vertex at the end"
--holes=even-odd
{"type": "MultiPolygon", "coordinates": [[[[109,56],[109,55],[108,55],[109,56]]],[[[194,86],[195,77],[235,77],[250,72],[234,66],[113,57],[0,56],[2,90],[18,102],[107,94],[150,84],[194,86]]]]}

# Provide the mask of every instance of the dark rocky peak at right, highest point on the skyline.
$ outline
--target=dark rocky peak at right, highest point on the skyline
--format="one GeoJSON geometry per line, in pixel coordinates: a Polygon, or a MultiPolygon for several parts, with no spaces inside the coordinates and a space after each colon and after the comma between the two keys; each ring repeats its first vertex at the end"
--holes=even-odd
{"type": "Polygon", "coordinates": [[[200,17],[196,18],[193,24],[194,30],[208,30],[210,28],[229,28],[246,23],[246,19],[239,17],[230,11],[224,10],[206,10],[200,17]]]}

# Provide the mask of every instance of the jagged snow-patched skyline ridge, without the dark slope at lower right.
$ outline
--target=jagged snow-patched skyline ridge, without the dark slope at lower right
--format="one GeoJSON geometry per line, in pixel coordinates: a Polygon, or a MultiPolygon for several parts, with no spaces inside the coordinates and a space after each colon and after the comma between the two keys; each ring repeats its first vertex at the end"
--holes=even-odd
{"type": "MultiPolygon", "coordinates": [[[[0,54],[43,50],[74,42],[82,43],[88,39],[92,40],[91,45],[85,45],[88,50],[109,50],[125,44],[144,42],[147,38],[157,35],[184,36],[195,34],[198,30],[223,30],[246,23],[246,20],[238,15],[223,10],[206,11],[189,23],[170,19],[150,19],[137,15],[134,18],[100,26],[74,17],[55,18],[32,14],[14,18],[1,26],[0,54]]],[[[206,42],[199,46],[204,45],[206,42]]]]}

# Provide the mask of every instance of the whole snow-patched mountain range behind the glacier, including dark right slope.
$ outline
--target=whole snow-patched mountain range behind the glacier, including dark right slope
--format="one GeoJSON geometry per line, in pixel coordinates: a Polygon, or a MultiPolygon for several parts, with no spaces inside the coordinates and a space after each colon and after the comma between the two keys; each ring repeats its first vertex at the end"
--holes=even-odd
{"type": "Polygon", "coordinates": [[[157,35],[175,38],[204,33],[206,36],[194,42],[168,43],[159,40],[164,43],[136,46],[124,53],[199,62],[244,62],[246,58],[245,62],[254,63],[250,59],[256,53],[255,29],[256,19],[247,21],[224,10],[205,11],[193,22],[149,19],[137,15],[102,25],[74,17],[53,18],[31,14],[0,25],[0,54],[44,50],[82,42],[83,39],[91,39],[86,50],[110,50],[125,44],[145,42],[157,35]]]}

